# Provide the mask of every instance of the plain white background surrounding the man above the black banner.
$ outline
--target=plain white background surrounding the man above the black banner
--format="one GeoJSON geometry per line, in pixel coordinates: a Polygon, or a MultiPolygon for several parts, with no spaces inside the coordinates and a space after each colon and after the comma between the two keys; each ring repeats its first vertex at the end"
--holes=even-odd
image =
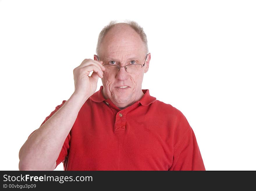
{"type": "Polygon", "coordinates": [[[147,34],[143,89],[186,116],[206,170],[256,170],[255,10],[242,0],[0,1],[0,170],[18,170],[20,147],[73,93],[73,69],[93,59],[101,29],[125,19],[147,34]]]}

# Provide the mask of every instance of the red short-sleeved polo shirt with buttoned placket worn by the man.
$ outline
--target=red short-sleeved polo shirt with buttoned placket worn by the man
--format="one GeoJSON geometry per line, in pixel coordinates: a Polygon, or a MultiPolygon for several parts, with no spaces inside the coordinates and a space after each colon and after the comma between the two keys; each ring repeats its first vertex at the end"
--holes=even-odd
{"type": "Polygon", "coordinates": [[[120,110],[104,99],[102,89],[81,107],[57,165],[63,162],[65,170],[205,170],[194,132],[178,109],[143,90],[141,100],[120,110]]]}

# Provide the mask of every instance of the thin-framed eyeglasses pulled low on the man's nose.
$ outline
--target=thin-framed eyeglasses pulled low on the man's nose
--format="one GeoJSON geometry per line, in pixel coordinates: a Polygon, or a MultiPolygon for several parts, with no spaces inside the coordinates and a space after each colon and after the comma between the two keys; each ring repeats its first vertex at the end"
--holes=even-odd
{"type": "MultiPolygon", "coordinates": [[[[97,56],[98,57],[98,56],[97,56]]],[[[99,57],[98,57],[99,60],[99,57]]],[[[147,55],[144,61],[144,64],[132,64],[131,62],[134,60],[131,60],[129,63],[131,64],[127,64],[125,66],[119,66],[117,64],[115,64],[116,62],[114,60],[109,61],[108,63],[114,62],[113,64],[104,64],[103,66],[106,68],[106,70],[104,72],[107,73],[117,73],[119,72],[120,68],[125,68],[126,72],[133,74],[139,71],[139,69],[141,69],[143,66],[145,66],[147,60],[147,55]]],[[[135,62],[135,61],[134,61],[135,62]]]]}

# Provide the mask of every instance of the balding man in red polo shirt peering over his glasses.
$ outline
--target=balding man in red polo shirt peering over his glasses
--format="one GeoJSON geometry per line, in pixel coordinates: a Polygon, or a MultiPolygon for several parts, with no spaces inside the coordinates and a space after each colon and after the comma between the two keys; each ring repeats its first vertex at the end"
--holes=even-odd
{"type": "Polygon", "coordinates": [[[111,22],[96,52],[74,69],[71,97],[20,149],[19,169],[205,170],[184,115],[141,89],[151,58],[143,28],[111,22]]]}

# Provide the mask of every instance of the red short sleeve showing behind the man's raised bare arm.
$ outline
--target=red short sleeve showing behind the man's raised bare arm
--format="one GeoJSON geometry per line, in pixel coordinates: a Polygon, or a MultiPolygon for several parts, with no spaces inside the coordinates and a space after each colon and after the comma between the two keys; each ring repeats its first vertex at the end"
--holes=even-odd
{"type": "MultiPolygon", "coordinates": [[[[58,111],[64,105],[65,102],[66,102],[66,100],[63,100],[63,102],[60,105],[56,106],[55,110],[52,111],[51,114],[45,118],[45,120],[42,122],[42,124],[40,126],[42,126],[48,119],[50,119],[51,116],[53,116],[54,113],[56,113],[56,111],[58,111]]],[[[32,135],[35,131],[33,131],[30,135],[32,135]]],[[[61,152],[56,160],[56,167],[61,162],[63,162],[64,166],[65,166],[65,161],[66,161],[66,158],[68,156],[68,151],[69,151],[69,143],[70,143],[70,133],[67,135],[67,138],[65,139],[64,144],[62,146],[61,152]]]]}

